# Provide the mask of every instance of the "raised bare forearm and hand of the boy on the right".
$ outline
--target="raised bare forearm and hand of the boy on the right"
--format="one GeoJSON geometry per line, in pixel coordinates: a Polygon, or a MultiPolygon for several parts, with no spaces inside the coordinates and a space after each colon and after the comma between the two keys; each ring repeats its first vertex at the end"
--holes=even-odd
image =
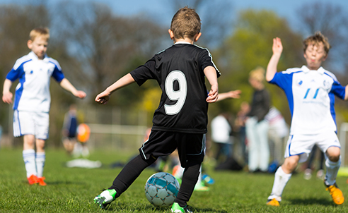
{"type": "Polygon", "coordinates": [[[273,39],[272,51],[273,51],[273,55],[267,65],[267,71],[266,71],[267,81],[272,80],[275,73],[277,73],[277,65],[278,65],[280,56],[282,55],[283,45],[279,37],[276,37],[275,39],[273,39]]]}

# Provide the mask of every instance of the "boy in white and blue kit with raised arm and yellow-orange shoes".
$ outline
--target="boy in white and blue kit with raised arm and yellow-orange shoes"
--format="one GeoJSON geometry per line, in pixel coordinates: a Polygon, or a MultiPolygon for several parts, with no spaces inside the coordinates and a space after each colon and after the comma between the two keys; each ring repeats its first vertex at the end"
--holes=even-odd
{"type": "Polygon", "coordinates": [[[273,39],[273,55],[267,66],[266,80],[281,87],[291,110],[291,128],[286,145],[285,160],[274,175],[272,193],[267,205],[279,206],[282,193],[298,162],[305,162],[313,145],[325,153],[325,186],[333,202],[342,205],[344,197],[337,188],[336,177],[340,168],[340,142],[336,135],[335,95],[348,99],[347,86],[343,87],[335,75],[321,67],[327,58],[330,44],[320,32],[303,41],[307,66],[289,68],[277,73],[277,64],[283,51],[282,42],[273,39]]]}

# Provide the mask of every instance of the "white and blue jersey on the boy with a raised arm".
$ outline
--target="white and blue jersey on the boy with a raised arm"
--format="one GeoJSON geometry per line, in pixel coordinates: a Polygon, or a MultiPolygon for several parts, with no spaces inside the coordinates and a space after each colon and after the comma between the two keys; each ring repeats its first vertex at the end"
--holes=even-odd
{"type": "Polygon", "coordinates": [[[332,73],[320,67],[311,71],[306,66],[276,73],[269,83],[281,87],[291,111],[290,135],[335,132],[335,95],[344,99],[343,87],[332,73]]]}

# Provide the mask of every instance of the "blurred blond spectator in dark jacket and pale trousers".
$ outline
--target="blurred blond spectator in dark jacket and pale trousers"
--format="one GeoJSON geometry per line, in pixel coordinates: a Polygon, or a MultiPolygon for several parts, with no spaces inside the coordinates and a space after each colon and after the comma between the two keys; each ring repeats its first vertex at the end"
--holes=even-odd
{"type": "Polygon", "coordinates": [[[249,83],[254,88],[250,112],[245,122],[248,138],[248,166],[250,172],[267,172],[269,164],[268,128],[265,116],[269,111],[269,93],[265,89],[265,69],[261,67],[250,71],[249,83]]]}

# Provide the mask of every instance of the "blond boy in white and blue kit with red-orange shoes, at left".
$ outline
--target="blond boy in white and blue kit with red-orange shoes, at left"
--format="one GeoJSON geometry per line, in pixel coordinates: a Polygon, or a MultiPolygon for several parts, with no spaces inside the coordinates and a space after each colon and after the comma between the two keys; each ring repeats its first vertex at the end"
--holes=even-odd
{"type": "Polygon", "coordinates": [[[45,140],[49,131],[50,78],[71,92],[75,97],[86,97],[64,78],[59,63],[46,54],[50,32],[47,28],[35,28],[30,32],[28,55],[18,59],[6,75],[2,100],[13,103],[13,135],[23,136],[23,160],[30,185],[46,185],[43,174],[45,166],[45,140]],[[10,92],[13,81],[19,79],[15,99],[10,92]],[[35,152],[36,147],[36,152],[35,152]]]}

